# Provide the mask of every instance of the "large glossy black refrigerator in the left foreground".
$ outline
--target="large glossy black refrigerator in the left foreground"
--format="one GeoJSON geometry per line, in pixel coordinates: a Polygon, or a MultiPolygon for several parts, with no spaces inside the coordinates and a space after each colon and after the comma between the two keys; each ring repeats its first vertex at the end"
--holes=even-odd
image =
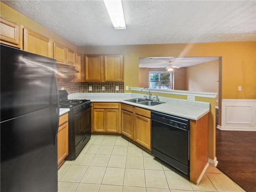
{"type": "Polygon", "coordinates": [[[1,191],[57,192],[56,60],[0,46],[1,191]]]}

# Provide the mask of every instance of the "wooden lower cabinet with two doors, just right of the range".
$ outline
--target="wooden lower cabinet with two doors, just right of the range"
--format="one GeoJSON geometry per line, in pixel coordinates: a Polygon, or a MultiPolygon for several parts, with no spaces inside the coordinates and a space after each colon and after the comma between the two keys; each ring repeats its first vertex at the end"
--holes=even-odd
{"type": "Polygon", "coordinates": [[[92,132],[120,132],[119,103],[93,103],[92,132]]]}

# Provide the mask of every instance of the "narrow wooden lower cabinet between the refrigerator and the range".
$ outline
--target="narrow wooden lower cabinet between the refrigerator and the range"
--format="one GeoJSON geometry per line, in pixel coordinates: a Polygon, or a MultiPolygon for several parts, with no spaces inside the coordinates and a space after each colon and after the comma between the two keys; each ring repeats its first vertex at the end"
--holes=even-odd
{"type": "Polygon", "coordinates": [[[68,156],[68,113],[60,116],[57,144],[59,168],[64,163],[66,156],[68,156]]]}

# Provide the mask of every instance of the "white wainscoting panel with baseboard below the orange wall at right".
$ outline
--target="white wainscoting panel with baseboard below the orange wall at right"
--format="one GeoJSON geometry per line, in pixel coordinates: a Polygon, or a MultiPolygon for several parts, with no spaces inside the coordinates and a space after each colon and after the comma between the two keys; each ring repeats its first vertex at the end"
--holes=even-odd
{"type": "Polygon", "coordinates": [[[223,99],[221,130],[256,131],[256,100],[223,99]]]}

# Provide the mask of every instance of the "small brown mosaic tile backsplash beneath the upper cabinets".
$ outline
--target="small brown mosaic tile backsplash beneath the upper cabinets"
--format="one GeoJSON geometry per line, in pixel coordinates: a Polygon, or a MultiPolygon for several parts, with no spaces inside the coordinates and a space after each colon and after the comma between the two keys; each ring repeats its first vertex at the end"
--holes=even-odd
{"type": "Polygon", "coordinates": [[[82,92],[82,93],[123,93],[124,82],[65,82],[64,79],[58,78],[58,88],[64,88],[68,94],[82,92]],[[89,90],[89,86],[92,90],[89,90]],[[118,90],[116,90],[118,86],[118,90]],[[104,87],[104,90],[102,90],[104,87]]]}

